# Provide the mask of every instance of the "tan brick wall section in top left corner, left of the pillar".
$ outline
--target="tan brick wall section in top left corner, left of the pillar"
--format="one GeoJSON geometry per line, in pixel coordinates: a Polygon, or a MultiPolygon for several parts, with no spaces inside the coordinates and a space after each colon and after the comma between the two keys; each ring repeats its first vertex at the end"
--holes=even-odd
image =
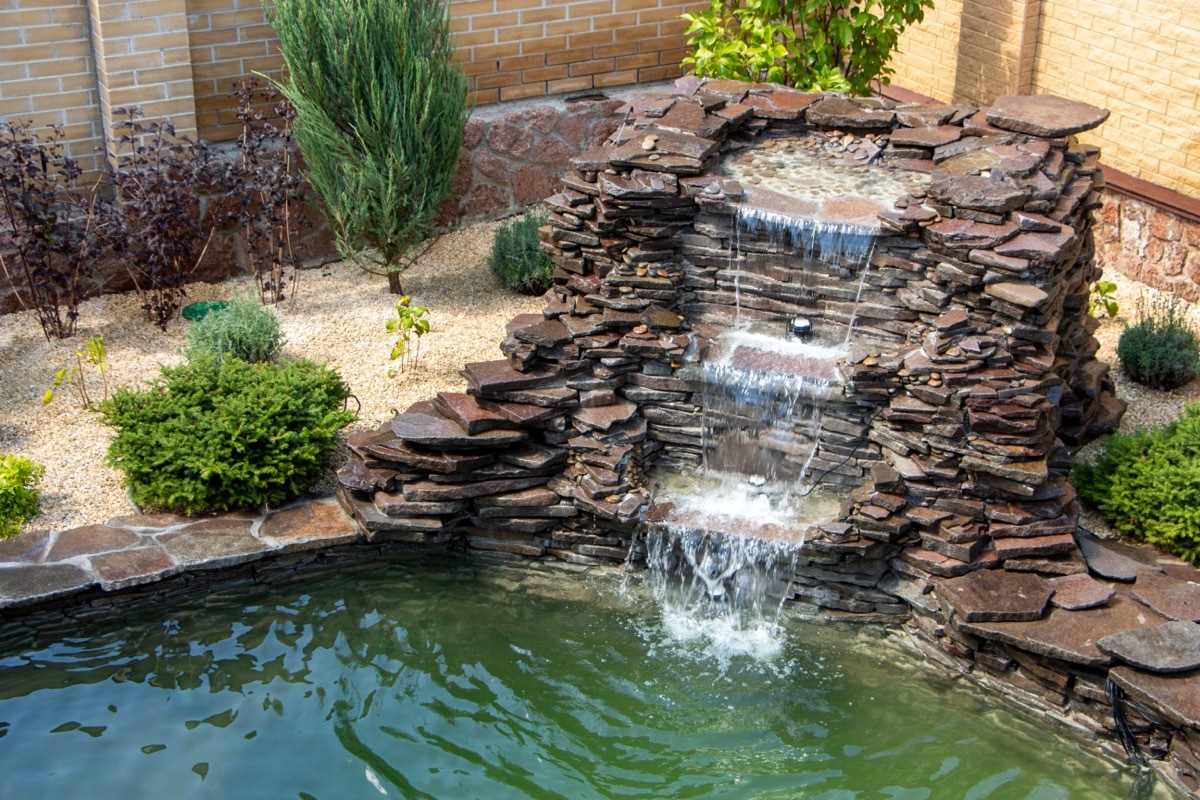
{"type": "Polygon", "coordinates": [[[103,139],[85,0],[0,0],[0,119],[61,125],[72,157],[98,168],[103,139]]]}

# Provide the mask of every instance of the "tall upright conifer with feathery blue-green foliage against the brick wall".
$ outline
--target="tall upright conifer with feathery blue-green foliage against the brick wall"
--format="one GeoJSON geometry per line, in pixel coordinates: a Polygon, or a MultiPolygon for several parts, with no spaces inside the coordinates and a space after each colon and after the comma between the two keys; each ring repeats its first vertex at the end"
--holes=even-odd
{"type": "Polygon", "coordinates": [[[450,197],[467,78],[438,0],[278,0],[280,89],[338,251],[392,291],[450,197]]]}

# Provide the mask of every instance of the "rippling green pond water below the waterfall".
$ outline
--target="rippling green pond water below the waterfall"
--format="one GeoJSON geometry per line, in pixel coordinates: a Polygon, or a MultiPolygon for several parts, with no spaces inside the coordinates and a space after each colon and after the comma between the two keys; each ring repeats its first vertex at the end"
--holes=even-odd
{"type": "Polygon", "coordinates": [[[731,645],[637,584],[407,559],[0,654],[0,795],[1152,796],[877,636],[731,645]]]}

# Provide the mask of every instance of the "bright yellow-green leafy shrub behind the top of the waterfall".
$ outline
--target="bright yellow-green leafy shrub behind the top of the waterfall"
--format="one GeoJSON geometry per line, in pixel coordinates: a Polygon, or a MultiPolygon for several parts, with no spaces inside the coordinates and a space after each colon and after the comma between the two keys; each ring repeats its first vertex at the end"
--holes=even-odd
{"type": "Polygon", "coordinates": [[[710,0],[685,13],[697,76],[865,95],[934,0],[710,0]]]}

